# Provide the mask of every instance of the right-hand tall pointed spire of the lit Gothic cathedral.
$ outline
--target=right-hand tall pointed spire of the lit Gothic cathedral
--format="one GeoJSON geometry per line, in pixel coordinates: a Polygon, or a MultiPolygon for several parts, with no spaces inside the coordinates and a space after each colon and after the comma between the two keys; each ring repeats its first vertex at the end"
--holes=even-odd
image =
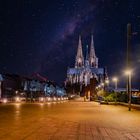
{"type": "Polygon", "coordinates": [[[91,67],[98,67],[98,58],[96,57],[96,54],[95,54],[93,35],[91,35],[91,46],[90,46],[89,61],[90,61],[90,66],[91,67]]]}

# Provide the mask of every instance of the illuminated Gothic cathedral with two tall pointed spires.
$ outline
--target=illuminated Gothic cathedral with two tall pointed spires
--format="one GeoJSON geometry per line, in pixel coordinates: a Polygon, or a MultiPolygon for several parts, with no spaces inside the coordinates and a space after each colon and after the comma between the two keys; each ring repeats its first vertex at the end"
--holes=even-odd
{"type": "Polygon", "coordinates": [[[83,55],[81,36],[79,36],[75,66],[67,70],[67,84],[79,84],[80,87],[84,86],[93,95],[95,94],[95,86],[99,83],[104,83],[106,78],[106,69],[100,68],[98,65],[93,35],[91,36],[90,48],[88,48],[88,45],[86,46],[85,57],[83,55]]]}

